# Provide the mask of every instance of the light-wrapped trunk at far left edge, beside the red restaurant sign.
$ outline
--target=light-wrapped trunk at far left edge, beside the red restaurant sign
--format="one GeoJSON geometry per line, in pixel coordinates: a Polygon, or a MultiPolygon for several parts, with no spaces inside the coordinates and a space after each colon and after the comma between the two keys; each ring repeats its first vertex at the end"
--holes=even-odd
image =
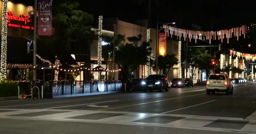
{"type": "Polygon", "coordinates": [[[7,62],[7,2],[3,0],[2,16],[2,39],[1,39],[1,60],[0,60],[0,81],[6,79],[6,62],[7,62]]]}

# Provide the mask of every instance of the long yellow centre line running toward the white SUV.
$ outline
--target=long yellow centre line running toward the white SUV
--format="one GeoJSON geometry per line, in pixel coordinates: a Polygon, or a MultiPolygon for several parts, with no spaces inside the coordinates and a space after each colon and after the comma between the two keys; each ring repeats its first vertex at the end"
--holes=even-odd
{"type": "Polygon", "coordinates": [[[119,109],[119,108],[127,108],[127,107],[131,107],[131,106],[139,106],[139,105],[156,103],[156,102],[161,102],[161,101],[170,101],[170,100],[193,97],[193,96],[198,96],[198,95],[205,95],[205,93],[200,93],[200,94],[196,94],[196,95],[188,95],[188,96],[183,96],[183,97],[176,97],[176,98],[169,98],[169,99],[159,100],[159,101],[150,101],[150,102],[146,102],[146,103],[132,104],[132,105],[126,105],[126,106],[118,106],[118,107],[114,107],[114,108],[105,108],[105,109],[100,109],[99,111],[107,111],[107,110],[113,110],[113,109],[119,109]]]}

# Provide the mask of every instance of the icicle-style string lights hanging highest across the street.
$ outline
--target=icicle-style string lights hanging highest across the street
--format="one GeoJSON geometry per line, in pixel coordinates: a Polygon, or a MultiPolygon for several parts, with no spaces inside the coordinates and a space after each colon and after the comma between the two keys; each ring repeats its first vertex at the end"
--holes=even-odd
{"type": "Polygon", "coordinates": [[[224,29],[219,31],[193,31],[168,26],[166,24],[163,25],[163,28],[167,36],[169,36],[170,34],[171,38],[173,38],[173,36],[176,36],[177,39],[181,40],[181,38],[183,38],[184,41],[186,41],[187,38],[189,39],[189,41],[191,41],[191,39],[195,39],[195,43],[197,43],[197,39],[206,39],[209,40],[210,44],[212,40],[221,40],[222,43],[224,39],[227,39],[227,43],[229,43],[229,40],[232,37],[236,37],[238,41],[240,36],[243,36],[243,38],[245,38],[245,33],[247,33],[249,29],[248,26],[243,25],[240,27],[224,29]]]}

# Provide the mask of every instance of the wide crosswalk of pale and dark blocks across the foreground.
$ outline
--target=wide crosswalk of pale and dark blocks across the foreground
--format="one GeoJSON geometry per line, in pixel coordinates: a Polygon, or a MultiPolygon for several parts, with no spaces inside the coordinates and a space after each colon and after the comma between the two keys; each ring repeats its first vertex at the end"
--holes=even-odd
{"type": "MultiPolygon", "coordinates": [[[[254,116],[255,113],[253,113],[254,116]]],[[[256,133],[256,120],[65,109],[0,109],[0,119],[33,119],[256,133]]]]}

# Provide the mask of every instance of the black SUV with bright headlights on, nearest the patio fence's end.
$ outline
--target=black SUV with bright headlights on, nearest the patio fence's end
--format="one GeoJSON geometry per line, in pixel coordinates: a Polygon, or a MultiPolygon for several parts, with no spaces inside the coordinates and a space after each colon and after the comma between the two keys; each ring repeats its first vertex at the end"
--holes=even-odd
{"type": "Polygon", "coordinates": [[[146,90],[168,91],[168,79],[165,75],[149,75],[141,82],[141,88],[144,92],[146,90]]]}

